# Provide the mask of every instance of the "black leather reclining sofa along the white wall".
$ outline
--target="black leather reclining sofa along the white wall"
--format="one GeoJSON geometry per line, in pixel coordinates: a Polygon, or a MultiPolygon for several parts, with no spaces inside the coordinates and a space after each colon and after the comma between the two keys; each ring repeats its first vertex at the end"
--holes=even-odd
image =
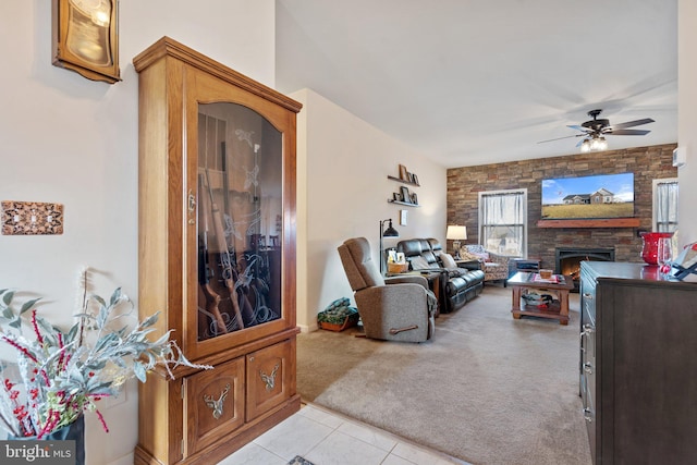
{"type": "Polygon", "coordinates": [[[409,270],[431,270],[441,273],[440,311],[450,313],[475,298],[484,289],[484,271],[466,268],[444,268],[440,242],[436,238],[409,238],[396,244],[396,252],[404,253],[409,270]],[[418,258],[417,258],[418,257],[418,258]]]}

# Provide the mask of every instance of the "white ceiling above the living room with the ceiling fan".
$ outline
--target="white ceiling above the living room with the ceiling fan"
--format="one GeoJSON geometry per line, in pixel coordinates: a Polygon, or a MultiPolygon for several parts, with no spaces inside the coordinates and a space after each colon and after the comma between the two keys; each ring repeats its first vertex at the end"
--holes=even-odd
{"type": "Polygon", "coordinates": [[[677,142],[677,0],[277,0],[277,87],[447,168],[570,155],[568,124],[652,118],[677,142]]]}

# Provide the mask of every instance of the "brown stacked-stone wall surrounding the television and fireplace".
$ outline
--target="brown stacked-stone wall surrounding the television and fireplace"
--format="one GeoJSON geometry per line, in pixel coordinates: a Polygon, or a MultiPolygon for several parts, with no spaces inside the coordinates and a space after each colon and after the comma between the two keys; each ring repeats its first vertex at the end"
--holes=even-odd
{"type": "MultiPolygon", "coordinates": [[[[672,166],[676,144],[607,150],[509,163],[448,170],[448,224],[467,227],[467,244],[478,243],[478,193],[527,188],[528,257],[554,268],[558,246],[614,247],[616,261],[641,261],[639,230],[651,230],[652,180],[677,178],[672,166]],[[634,215],[639,228],[538,228],[541,217],[541,183],[550,178],[634,173],[634,215]]],[[[450,248],[452,244],[449,244],[450,248]]]]}

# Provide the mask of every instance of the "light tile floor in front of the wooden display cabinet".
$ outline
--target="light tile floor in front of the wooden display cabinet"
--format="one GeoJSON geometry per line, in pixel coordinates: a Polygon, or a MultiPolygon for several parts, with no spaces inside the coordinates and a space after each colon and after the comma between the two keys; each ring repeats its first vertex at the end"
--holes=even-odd
{"type": "Polygon", "coordinates": [[[295,455],[315,465],[468,465],[315,405],[303,405],[218,465],[285,465],[295,455]]]}

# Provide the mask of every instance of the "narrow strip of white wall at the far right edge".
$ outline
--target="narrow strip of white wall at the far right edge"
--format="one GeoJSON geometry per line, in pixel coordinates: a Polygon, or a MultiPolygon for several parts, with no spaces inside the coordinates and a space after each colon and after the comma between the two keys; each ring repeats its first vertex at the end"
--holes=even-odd
{"type": "Polygon", "coordinates": [[[697,2],[677,3],[677,146],[687,149],[687,164],[677,170],[682,245],[697,241],[697,2]]]}

